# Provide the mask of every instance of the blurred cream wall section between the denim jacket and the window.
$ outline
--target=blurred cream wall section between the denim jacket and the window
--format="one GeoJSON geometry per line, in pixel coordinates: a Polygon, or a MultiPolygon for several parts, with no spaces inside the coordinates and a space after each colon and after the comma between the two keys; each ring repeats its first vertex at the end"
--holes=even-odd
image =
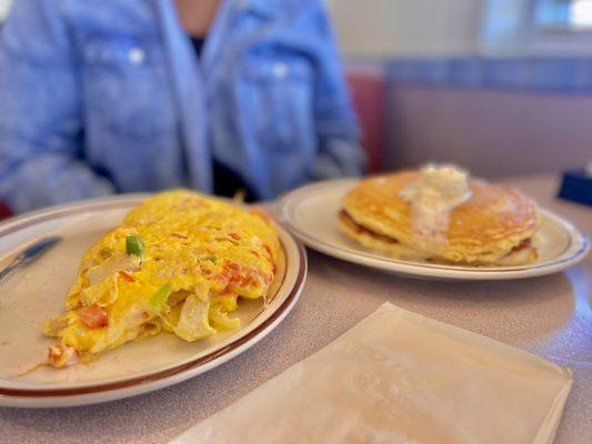
{"type": "Polygon", "coordinates": [[[347,58],[390,59],[475,51],[483,0],[333,0],[347,58]]]}

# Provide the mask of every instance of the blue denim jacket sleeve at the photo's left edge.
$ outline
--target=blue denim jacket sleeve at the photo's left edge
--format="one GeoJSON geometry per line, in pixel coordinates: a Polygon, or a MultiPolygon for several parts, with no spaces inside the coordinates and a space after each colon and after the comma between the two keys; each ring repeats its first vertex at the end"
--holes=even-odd
{"type": "Polygon", "coordinates": [[[0,200],[13,211],[114,192],[82,159],[82,112],[61,0],[19,0],[0,32],[0,200]]]}

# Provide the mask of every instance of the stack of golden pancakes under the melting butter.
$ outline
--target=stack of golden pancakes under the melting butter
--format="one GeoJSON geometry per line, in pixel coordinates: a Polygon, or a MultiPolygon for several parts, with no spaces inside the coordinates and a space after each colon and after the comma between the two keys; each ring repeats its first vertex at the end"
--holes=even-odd
{"type": "Polygon", "coordinates": [[[536,204],[503,186],[471,181],[472,195],[452,210],[444,241],[417,233],[411,204],[399,192],[418,176],[417,171],[404,171],[361,181],[344,198],[339,214],[343,232],[395,259],[470,265],[518,265],[536,259],[536,204]]]}

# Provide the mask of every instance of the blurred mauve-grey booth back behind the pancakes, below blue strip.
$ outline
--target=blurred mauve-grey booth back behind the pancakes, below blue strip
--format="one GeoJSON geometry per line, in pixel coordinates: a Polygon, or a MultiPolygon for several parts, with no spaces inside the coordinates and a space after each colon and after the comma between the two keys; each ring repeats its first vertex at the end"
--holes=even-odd
{"type": "Polygon", "coordinates": [[[592,159],[592,98],[407,84],[388,88],[384,168],[428,160],[495,178],[581,169],[592,159]]]}

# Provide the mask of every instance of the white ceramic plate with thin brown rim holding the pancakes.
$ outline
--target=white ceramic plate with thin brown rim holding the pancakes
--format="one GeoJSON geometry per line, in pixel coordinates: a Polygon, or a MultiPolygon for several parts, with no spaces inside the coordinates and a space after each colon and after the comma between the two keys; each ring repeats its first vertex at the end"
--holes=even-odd
{"type": "Polygon", "coordinates": [[[367,249],[345,236],[338,213],[345,193],[357,180],[320,182],[294,190],[279,202],[277,213],[285,226],[311,249],[331,256],[397,274],[445,280],[508,280],[555,273],[581,261],[589,239],[571,222],[542,210],[536,241],[539,260],[520,266],[459,266],[400,261],[367,249]]]}

